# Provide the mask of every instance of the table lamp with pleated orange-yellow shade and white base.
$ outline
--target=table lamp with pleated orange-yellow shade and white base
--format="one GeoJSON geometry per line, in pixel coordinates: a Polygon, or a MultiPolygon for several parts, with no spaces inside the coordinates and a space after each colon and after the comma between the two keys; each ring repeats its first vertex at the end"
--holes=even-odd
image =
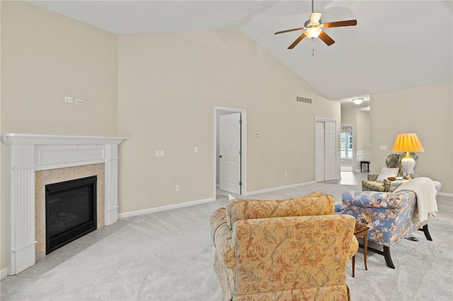
{"type": "Polygon", "coordinates": [[[398,134],[398,136],[396,136],[393,151],[402,151],[406,153],[404,155],[404,158],[401,160],[401,166],[403,167],[406,179],[410,179],[413,173],[413,167],[415,167],[415,160],[413,159],[411,152],[416,153],[425,151],[423,149],[422,143],[420,143],[420,140],[418,140],[417,134],[398,134]]]}

